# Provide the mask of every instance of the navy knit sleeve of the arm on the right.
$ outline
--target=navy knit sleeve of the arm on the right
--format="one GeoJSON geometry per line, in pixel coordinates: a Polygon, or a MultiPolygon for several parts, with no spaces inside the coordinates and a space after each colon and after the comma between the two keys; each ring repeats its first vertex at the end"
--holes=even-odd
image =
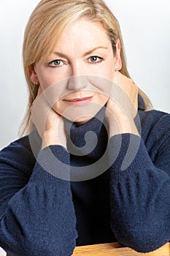
{"type": "Polygon", "coordinates": [[[110,174],[112,232],[120,244],[150,252],[170,241],[170,138],[154,161],[136,135],[112,137],[110,158],[117,148],[110,174]]]}

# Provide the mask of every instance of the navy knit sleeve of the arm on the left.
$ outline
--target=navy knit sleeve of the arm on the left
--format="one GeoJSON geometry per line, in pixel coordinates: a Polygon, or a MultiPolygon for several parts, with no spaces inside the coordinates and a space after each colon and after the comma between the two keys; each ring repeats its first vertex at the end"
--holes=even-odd
{"type": "Polygon", "coordinates": [[[9,146],[0,173],[0,246],[10,256],[72,255],[77,231],[65,148],[44,148],[33,165],[26,148],[9,146]]]}

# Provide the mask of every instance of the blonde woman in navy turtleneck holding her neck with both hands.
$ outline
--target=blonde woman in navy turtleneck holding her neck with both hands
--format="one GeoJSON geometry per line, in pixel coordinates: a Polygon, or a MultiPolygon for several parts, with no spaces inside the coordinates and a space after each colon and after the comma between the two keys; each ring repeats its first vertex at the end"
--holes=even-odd
{"type": "Polygon", "coordinates": [[[23,42],[28,135],[1,151],[0,246],[72,255],[170,240],[169,124],[133,83],[101,0],[42,0],[23,42]],[[79,181],[79,182],[77,182],[79,181]]]}

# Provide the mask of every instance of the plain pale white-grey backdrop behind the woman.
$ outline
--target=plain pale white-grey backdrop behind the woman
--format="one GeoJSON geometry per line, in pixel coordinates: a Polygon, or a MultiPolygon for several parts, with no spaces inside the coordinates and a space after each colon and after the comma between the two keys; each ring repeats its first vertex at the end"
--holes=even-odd
{"type": "MultiPolygon", "coordinates": [[[[28,16],[39,0],[1,1],[0,148],[18,138],[27,104],[21,50],[28,16]]],[[[107,0],[120,22],[128,69],[154,108],[170,113],[170,1],[107,0]]],[[[5,255],[0,249],[0,256],[5,255]]]]}

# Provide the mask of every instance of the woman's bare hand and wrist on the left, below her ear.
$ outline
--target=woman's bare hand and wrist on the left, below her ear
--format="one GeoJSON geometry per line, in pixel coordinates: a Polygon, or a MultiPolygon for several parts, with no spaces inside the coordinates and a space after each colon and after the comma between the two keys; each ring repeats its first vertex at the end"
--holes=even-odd
{"type": "Polygon", "coordinates": [[[61,145],[66,148],[63,118],[48,104],[40,86],[31,106],[31,121],[42,138],[42,148],[50,145],[61,145]]]}

